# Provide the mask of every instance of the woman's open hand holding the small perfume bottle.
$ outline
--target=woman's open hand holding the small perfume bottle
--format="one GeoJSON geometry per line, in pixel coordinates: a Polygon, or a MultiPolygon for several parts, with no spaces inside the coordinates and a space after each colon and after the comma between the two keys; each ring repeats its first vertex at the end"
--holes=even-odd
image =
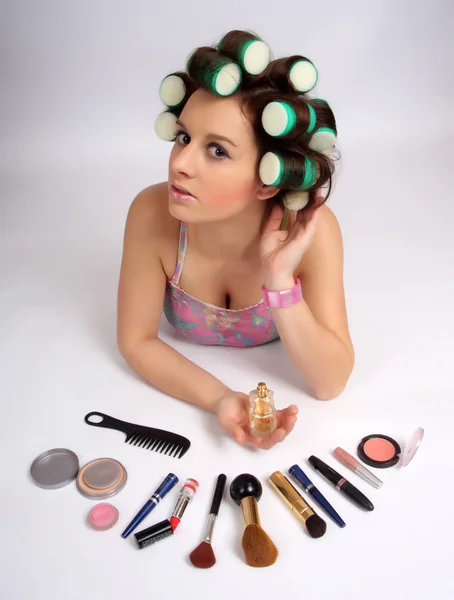
{"type": "Polygon", "coordinates": [[[283,442],[296,423],[298,407],[289,406],[276,411],[276,429],[270,435],[257,438],[251,434],[249,426],[249,397],[241,392],[228,392],[216,403],[219,424],[241,445],[269,450],[283,442]]]}

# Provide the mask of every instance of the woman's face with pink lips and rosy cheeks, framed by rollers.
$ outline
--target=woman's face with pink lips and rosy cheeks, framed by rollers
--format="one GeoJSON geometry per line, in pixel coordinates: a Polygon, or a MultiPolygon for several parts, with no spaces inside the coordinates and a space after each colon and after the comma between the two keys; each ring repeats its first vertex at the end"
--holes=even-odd
{"type": "Polygon", "coordinates": [[[177,122],[169,161],[169,210],[180,219],[228,219],[256,201],[258,149],[250,122],[235,97],[197,90],[177,122]],[[184,188],[190,196],[176,193],[184,188]]]}

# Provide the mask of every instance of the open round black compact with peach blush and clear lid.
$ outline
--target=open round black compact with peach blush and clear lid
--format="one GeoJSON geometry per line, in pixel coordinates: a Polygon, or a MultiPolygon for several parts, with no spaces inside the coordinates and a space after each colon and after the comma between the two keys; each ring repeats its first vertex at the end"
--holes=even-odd
{"type": "Polygon", "coordinates": [[[406,444],[404,451],[396,440],[387,435],[368,435],[358,445],[358,456],[366,465],[378,469],[394,467],[399,461],[401,467],[406,467],[416,454],[423,435],[424,429],[419,427],[406,444]]]}

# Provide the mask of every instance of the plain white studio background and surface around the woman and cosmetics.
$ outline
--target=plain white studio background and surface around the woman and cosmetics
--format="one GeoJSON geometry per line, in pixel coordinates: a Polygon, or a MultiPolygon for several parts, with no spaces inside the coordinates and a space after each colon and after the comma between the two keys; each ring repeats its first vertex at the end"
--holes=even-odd
{"type": "MultiPolygon", "coordinates": [[[[452,429],[454,202],[451,187],[453,4],[342,2],[6,1],[1,17],[0,386],[2,598],[73,600],[215,595],[413,600],[453,597],[452,429]],[[301,53],[332,105],[342,168],[330,206],[345,244],[345,287],[356,366],[332,402],[301,391],[279,344],[207,348],[162,335],[235,389],[264,379],[278,406],[298,404],[294,433],[270,452],[223,437],[215,419],[168,398],[127,368],[115,345],[116,286],[126,212],[167,177],[170,146],[153,123],[161,79],[196,46],[232,28],[255,30],[276,57],[301,53]],[[100,410],[192,440],[176,461],[88,427],[100,410]],[[385,433],[426,434],[414,461],[377,474],[380,490],[331,452],[355,454],[385,433]],[[128,471],[112,498],[117,526],[94,532],[94,502],[75,484],[47,491],[29,478],[35,456],[74,450],[128,471]],[[316,454],[375,503],[364,513],[307,465],[316,454]],[[347,522],[311,539],[267,477],[298,463],[347,522]],[[200,490],[176,535],[143,551],[120,533],[169,472],[200,490]],[[242,517],[226,491],[217,565],[187,560],[218,473],[260,478],[274,567],[241,555],[242,517]],[[296,596],[295,596],[296,597],[296,596]]],[[[177,488],[146,525],[170,515],[177,488]]],[[[324,516],[320,512],[321,516],[324,516]]]]}

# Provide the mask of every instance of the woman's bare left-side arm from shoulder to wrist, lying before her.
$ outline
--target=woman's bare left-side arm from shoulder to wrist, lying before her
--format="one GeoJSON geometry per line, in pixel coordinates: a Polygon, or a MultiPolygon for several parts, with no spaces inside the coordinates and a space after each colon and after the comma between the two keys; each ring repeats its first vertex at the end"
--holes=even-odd
{"type": "Polygon", "coordinates": [[[214,412],[217,399],[229,388],[158,337],[166,276],[158,254],[162,232],[156,226],[162,223],[162,209],[153,195],[153,190],[141,192],[128,213],[118,288],[118,347],[150,384],[214,412]]]}

